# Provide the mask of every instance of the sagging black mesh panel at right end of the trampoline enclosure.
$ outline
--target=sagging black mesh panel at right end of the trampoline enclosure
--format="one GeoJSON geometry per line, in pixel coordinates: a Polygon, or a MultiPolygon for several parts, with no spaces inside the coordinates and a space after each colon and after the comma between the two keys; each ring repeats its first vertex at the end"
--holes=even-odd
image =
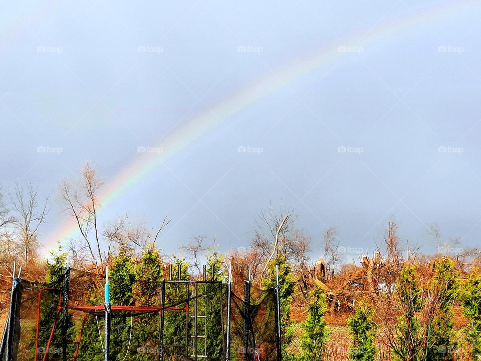
{"type": "Polygon", "coordinates": [[[233,293],[231,299],[231,359],[277,361],[274,289],[251,286],[250,302],[233,293]]]}

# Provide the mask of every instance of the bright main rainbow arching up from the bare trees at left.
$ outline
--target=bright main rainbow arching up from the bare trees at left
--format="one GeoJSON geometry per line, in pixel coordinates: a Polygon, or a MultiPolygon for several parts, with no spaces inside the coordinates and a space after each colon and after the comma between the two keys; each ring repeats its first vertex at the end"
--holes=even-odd
{"type": "MultiPolygon", "coordinates": [[[[250,83],[236,93],[215,104],[211,104],[208,110],[198,114],[171,132],[158,144],[162,152],[140,154],[132,164],[121,169],[113,177],[113,180],[104,187],[99,197],[99,202],[103,206],[108,206],[142,178],[146,177],[159,164],[166,162],[169,158],[186,149],[199,137],[207,134],[237,112],[242,111],[265,96],[302,78],[319,67],[333,63],[349,54],[348,51],[344,51],[347,47],[362,48],[403,29],[431,22],[444,16],[454,15],[460,10],[469,10],[471,7],[474,7],[474,3],[471,1],[456,1],[440,7],[425,9],[408,17],[397,18],[389,23],[376,26],[365,36],[362,35],[365,32],[356,32],[356,35],[352,37],[321,48],[307,57],[296,59],[290,64],[277,69],[274,72],[275,74],[269,72],[264,77],[250,83]]],[[[355,54],[350,55],[355,56],[355,54]]],[[[56,248],[59,241],[75,236],[77,236],[76,224],[71,220],[64,221],[57,229],[45,237],[47,239],[47,242],[44,243],[45,254],[56,248]]]]}

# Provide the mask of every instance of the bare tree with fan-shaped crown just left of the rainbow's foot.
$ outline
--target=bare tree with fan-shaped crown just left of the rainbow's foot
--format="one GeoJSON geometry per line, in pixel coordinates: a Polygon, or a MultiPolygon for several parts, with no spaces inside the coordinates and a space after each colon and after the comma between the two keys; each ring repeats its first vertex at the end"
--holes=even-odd
{"type": "Polygon", "coordinates": [[[10,194],[17,217],[13,220],[22,245],[25,268],[28,268],[29,258],[37,246],[37,236],[42,223],[47,223],[47,203],[49,198],[39,205],[38,189],[32,184],[27,188],[15,185],[14,193],[10,194]]]}

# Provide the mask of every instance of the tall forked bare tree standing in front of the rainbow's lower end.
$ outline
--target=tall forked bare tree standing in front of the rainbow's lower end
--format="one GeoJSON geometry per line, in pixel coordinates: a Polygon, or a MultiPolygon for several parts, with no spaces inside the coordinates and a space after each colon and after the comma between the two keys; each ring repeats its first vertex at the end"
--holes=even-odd
{"type": "Polygon", "coordinates": [[[97,225],[97,208],[99,207],[97,193],[102,185],[102,181],[96,176],[95,169],[87,163],[81,170],[80,186],[77,190],[73,190],[72,185],[67,181],[64,181],[59,189],[67,205],[67,210],[77,222],[84,241],[82,246],[89,250],[98,272],[104,270],[97,225]]]}

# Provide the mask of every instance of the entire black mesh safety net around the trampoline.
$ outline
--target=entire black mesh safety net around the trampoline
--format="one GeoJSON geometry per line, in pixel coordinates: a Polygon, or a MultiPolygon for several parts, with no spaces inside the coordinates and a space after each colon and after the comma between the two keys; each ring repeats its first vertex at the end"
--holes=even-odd
{"type": "MultiPolygon", "coordinates": [[[[102,283],[78,270],[51,283],[15,279],[0,360],[104,360],[102,283]]],[[[280,359],[275,289],[246,283],[245,294],[236,295],[219,281],[159,280],[155,293],[148,302],[108,304],[109,361],[280,359]]]]}

